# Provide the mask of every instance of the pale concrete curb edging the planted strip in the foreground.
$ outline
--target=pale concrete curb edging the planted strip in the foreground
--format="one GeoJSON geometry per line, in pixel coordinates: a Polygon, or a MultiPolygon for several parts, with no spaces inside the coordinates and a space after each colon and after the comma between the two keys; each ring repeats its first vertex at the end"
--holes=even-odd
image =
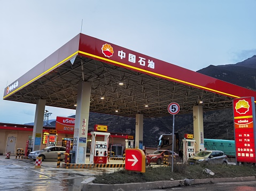
{"type": "MultiPolygon", "coordinates": [[[[117,184],[117,185],[103,185],[94,184],[92,180],[95,178],[88,178],[81,182],[81,191],[100,191],[100,190],[112,190],[112,191],[139,191],[139,190],[150,190],[150,189],[162,189],[168,187],[175,187],[180,185],[180,181],[157,181],[157,182],[140,182],[131,184],[117,184]]],[[[206,178],[206,179],[194,179],[193,184],[207,184],[207,183],[218,183],[218,182],[236,182],[236,181],[252,181],[255,180],[255,176],[252,177],[235,177],[235,178],[206,178]]]]}

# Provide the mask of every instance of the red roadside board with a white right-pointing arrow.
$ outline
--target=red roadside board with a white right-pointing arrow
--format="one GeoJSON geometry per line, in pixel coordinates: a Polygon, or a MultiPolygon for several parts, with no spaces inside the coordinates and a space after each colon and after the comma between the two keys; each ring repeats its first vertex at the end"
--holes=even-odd
{"type": "Polygon", "coordinates": [[[125,169],[137,172],[145,172],[145,153],[139,148],[126,148],[125,169]]]}

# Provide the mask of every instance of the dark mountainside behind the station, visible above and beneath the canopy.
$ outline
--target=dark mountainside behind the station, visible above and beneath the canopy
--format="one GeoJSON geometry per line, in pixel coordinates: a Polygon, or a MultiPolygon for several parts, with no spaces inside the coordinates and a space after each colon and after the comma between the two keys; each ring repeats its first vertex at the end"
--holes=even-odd
{"type": "MultiPolygon", "coordinates": [[[[238,86],[256,89],[256,55],[236,64],[209,65],[197,72],[238,86]]],[[[71,117],[75,118],[75,115],[71,117]]],[[[50,126],[55,127],[55,123],[56,121],[50,122],[50,126]]],[[[135,136],[135,118],[90,112],[88,129],[93,130],[95,124],[107,125],[110,132],[135,136]]],[[[157,147],[158,137],[171,133],[172,126],[172,116],[144,119],[143,144],[146,147],[157,147]]],[[[184,134],[193,134],[192,114],[175,115],[175,132],[179,132],[180,143],[184,134]]],[[[204,138],[234,140],[232,109],[204,112],[204,138]]]]}

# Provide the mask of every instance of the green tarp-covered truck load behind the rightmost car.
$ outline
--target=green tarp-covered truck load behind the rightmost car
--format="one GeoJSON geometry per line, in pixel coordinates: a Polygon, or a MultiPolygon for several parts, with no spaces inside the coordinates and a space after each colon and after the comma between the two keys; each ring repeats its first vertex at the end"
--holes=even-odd
{"type": "Polygon", "coordinates": [[[206,150],[223,151],[227,156],[236,156],[235,140],[204,139],[206,150]]]}

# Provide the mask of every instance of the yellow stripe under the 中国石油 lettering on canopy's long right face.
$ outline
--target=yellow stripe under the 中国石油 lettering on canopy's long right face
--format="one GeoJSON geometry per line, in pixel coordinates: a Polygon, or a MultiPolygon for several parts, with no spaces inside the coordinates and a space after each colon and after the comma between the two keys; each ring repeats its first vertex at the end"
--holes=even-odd
{"type": "MultiPolygon", "coordinates": [[[[140,69],[140,68],[137,68],[137,67],[133,67],[133,66],[131,66],[131,65],[123,64],[123,63],[121,63],[121,62],[117,62],[117,61],[113,61],[113,60],[110,60],[110,59],[106,59],[105,57],[96,56],[96,55],[89,54],[89,53],[82,52],[82,51],[78,51],[78,52],[79,52],[80,54],[84,54],[84,55],[96,57],[97,59],[101,59],[101,60],[105,60],[105,61],[108,61],[108,62],[112,62],[112,63],[118,64],[118,65],[122,65],[122,66],[124,66],[124,67],[132,68],[132,69],[139,70],[139,71],[142,71],[142,72],[145,72],[145,73],[154,74],[154,75],[159,76],[159,77],[163,77],[163,78],[167,78],[167,79],[170,79],[170,80],[179,81],[179,82],[182,82],[182,83],[184,83],[184,84],[196,86],[196,87],[199,87],[199,88],[211,90],[212,92],[217,92],[217,93],[221,93],[221,94],[228,95],[228,96],[231,96],[231,97],[239,98],[239,96],[235,96],[235,95],[232,95],[232,94],[227,94],[227,93],[224,93],[224,92],[220,92],[220,91],[218,91],[218,90],[215,90],[215,89],[206,88],[206,87],[204,87],[204,86],[199,86],[199,85],[196,85],[196,84],[192,84],[192,83],[187,82],[187,81],[179,80],[179,79],[176,79],[176,78],[164,76],[164,75],[159,74],[159,73],[155,73],[155,72],[151,72],[151,71],[148,71],[148,70],[144,70],[144,69],[140,69]]],[[[256,101],[255,101],[255,102],[256,102],[256,101]]]]}

